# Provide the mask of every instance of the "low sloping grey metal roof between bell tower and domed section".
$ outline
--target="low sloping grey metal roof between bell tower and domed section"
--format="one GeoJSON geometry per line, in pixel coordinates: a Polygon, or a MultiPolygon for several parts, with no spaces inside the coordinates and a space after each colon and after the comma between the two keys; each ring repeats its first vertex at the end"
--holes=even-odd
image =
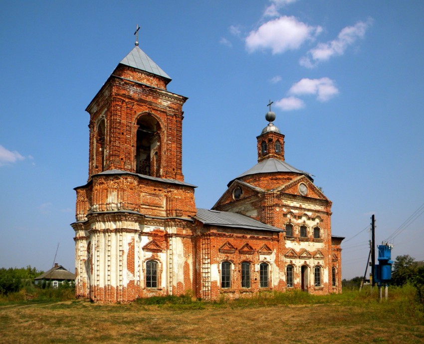
{"type": "Polygon", "coordinates": [[[244,229],[256,229],[256,230],[271,230],[271,231],[284,231],[280,228],[265,225],[260,221],[256,221],[247,216],[230,213],[230,212],[219,212],[217,210],[208,209],[197,209],[195,219],[199,220],[205,225],[221,226],[221,227],[233,227],[233,228],[244,228],[244,229]]]}

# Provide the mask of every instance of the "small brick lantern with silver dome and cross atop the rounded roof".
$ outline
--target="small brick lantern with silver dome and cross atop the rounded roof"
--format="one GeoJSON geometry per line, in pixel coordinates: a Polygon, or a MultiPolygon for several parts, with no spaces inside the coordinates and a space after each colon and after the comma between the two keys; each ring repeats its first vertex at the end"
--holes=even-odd
{"type": "Polygon", "coordinates": [[[284,135],[281,134],[280,130],[272,123],[275,120],[275,113],[271,111],[271,105],[273,103],[274,102],[269,100],[267,104],[269,111],[265,114],[265,119],[269,123],[263,128],[261,134],[256,137],[258,162],[269,158],[284,161],[284,135]]]}

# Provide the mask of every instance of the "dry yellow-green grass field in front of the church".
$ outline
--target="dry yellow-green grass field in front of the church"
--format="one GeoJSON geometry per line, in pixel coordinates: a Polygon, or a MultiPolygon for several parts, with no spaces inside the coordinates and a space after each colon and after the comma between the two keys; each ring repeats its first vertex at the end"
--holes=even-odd
{"type": "Polygon", "coordinates": [[[8,301],[0,302],[0,342],[424,343],[424,313],[414,289],[390,296],[382,303],[369,291],[217,303],[190,297],[123,305],[8,301]]]}

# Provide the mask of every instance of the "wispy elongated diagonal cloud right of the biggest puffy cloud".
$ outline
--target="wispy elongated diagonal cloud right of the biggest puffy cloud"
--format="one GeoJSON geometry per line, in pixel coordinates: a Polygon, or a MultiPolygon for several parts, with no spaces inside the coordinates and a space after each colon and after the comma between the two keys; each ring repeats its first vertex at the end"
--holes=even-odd
{"type": "Polygon", "coordinates": [[[300,65],[312,68],[321,61],[327,61],[333,56],[343,55],[350,45],[365,36],[365,32],[372,24],[372,21],[370,18],[366,22],[359,21],[354,26],[344,27],[336,39],[327,43],[318,43],[315,48],[309,50],[307,56],[300,59],[300,65]]]}

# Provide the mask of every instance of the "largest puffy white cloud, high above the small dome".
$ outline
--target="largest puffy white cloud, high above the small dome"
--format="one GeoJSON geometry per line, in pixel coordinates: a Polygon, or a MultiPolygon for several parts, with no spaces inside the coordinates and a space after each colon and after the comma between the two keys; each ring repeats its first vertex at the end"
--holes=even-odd
{"type": "Polygon", "coordinates": [[[309,26],[293,16],[281,16],[267,21],[246,38],[249,52],[271,49],[273,54],[298,49],[307,39],[313,39],[322,31],[320,26],[309,26]]]}

